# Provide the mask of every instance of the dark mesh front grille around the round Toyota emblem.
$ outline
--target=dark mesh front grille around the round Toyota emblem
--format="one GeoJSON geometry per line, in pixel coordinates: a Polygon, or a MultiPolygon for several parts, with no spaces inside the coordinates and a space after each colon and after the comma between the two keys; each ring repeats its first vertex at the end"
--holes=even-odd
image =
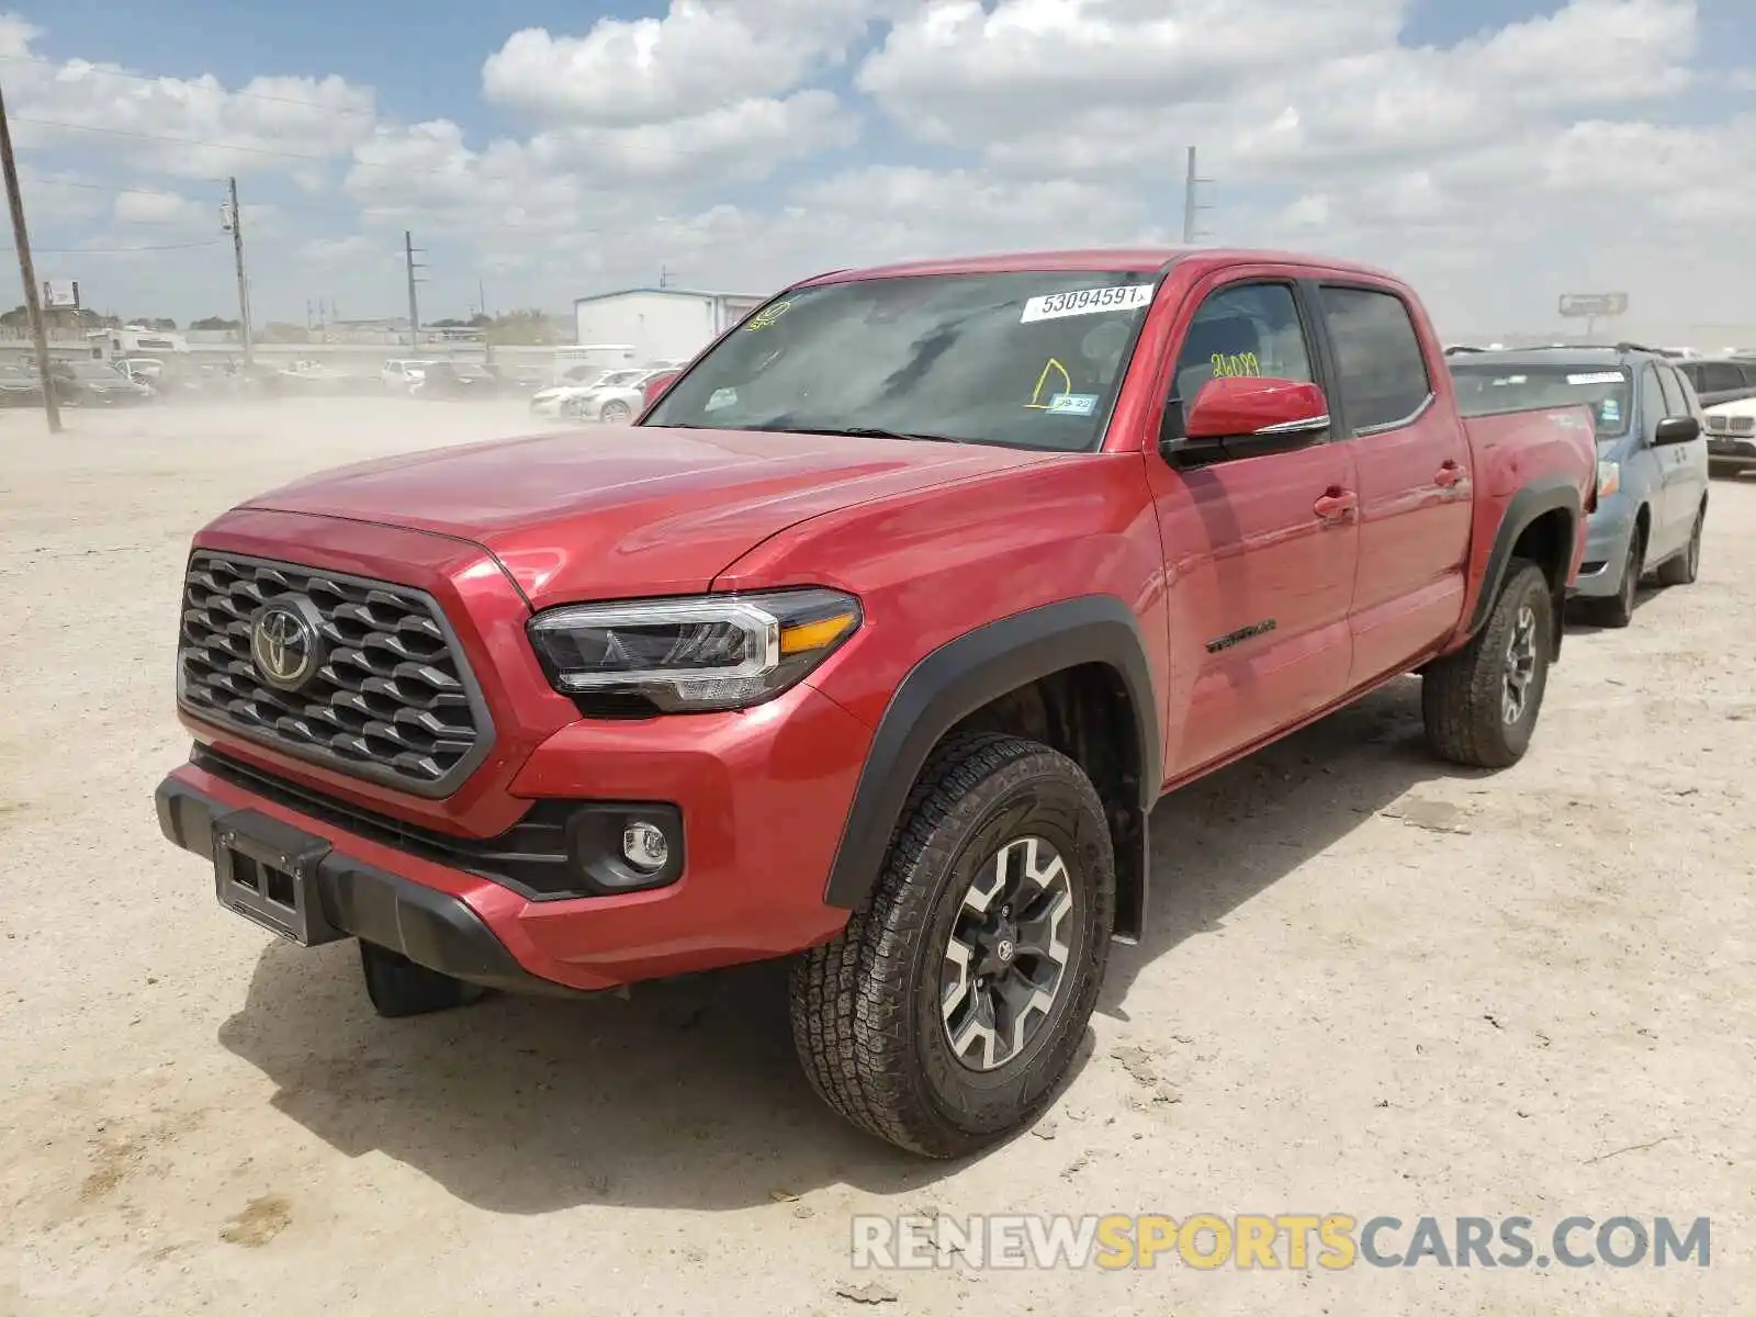
{"type": "Polygon", "coordinates": [[[492,725],[457,636],[430,595],[402,585],[197,551],[183,583],[177,694],[197,716],[418,795],[453,790],[488,753],[492,725]],[[318,637],[286,690],[253,655],[281,602],[318,637]]]}

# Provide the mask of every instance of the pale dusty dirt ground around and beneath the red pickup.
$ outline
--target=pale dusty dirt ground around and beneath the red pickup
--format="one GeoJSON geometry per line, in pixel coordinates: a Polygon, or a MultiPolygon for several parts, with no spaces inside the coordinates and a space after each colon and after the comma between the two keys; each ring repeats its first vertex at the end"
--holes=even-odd
{"type": "Polygon", "coordinates": [[[160,839],[190,532],[523,428],[0,414],[0,1312],[1749,1310],[1756,483],[1714,485],[1698,585],[1570,632],[1519,767],[1433,762],[1410,681],[1166,801],[1068,1092],[934,1166],[818,1106],[774,968],[385,1022],[349,945],[270,945],[160,839]],[[931,1208],[1707,1215],[1712,1266],[852,1270],[852,1212],[931,1208]]]}

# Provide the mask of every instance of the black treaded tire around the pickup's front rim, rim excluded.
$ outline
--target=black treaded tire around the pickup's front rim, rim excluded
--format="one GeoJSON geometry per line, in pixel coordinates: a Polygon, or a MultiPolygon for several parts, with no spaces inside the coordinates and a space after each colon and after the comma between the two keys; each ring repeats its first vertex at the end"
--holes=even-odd
{"type": "Polygon", "coordinates": [[[920,1155],[959,1157],[1006,1138],[1073,1062],[1113,920],[1110,829],[1080,766],[1015,736],[946,739],[910,792],[869,906],[794,966],[792,1033],[811,1087],[860,1129],[920,1155]],[[973,874],[1022,836],[1050,838],[1066,862],[1071,954],[1033,1040],[978,1075],[946,1038],[946,939],[973,874]]]}

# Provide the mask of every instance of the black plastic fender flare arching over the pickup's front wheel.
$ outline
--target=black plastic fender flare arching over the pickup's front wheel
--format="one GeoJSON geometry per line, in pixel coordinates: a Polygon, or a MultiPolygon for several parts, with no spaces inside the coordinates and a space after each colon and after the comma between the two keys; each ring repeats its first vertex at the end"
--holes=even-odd
{"type": "MultiPolygon", "coordinates": [[[[1138,831],[1145,838],[1145,815],[1157,802],[1164,781],[1164,746],[1147,646],[1127,604],[1115,595],[1080,595],[964,632],[908,671],[885,706],[860,769],[824,903],[841,910],[866,906],[908,794],[945,732],[989,701],[1080,664],[1112,667],[1134,706],[1141,769],[1138,831]]],[[[1117,855],[1119,871],[1131,860],[1117,855]]],[[[1140,862],[1145,864],[1145,853],[1140,862]]],[[[1141,906],[1145,876],[1145,871],[1138,874],[1141,906]]],[[[1138,934],[1138,929],[1127,927],[1133,922],[1127,911],[1119,910],[1119,931],[1138,934]]]]}

